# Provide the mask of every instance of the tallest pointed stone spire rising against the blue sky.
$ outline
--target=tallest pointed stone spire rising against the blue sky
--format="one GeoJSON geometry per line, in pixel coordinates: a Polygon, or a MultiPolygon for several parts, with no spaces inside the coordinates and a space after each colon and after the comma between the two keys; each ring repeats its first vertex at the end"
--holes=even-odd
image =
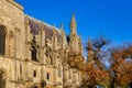
{"type": "Polygon", "coordinates": [[[75,14],[73,13],[72,20],[70,20],[70,33],[76,34],[77,23],[75,20],[75,14]]]}

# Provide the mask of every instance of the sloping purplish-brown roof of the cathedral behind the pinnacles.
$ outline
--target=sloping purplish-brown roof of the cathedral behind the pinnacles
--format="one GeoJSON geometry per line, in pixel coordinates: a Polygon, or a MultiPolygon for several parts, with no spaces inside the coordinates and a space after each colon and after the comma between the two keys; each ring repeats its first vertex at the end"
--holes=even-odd
{"type": "Polygon", "coordinates": [[[32,16],[29,16],[29,15],[25,15],[25,19],[29,20],[29,23],[30,23],[30,28],[31,28],[31,33],[33,35],[37,35],[38,34],[38,31],[40,31],[40,28],[41,28],[41,24],[44,26],[43,30],[45,32],[45,38],[50,38],[52,40],[52,36],[53,36],[53,33],[54,31],[56,31],[56,35],[58,37],[58,41],[59,41],[59,36],[61,36],[61,30],[53,26],[53,25],[50,25],[43,21],[40,21],[40,20],[36,20],[32,16]]]}

